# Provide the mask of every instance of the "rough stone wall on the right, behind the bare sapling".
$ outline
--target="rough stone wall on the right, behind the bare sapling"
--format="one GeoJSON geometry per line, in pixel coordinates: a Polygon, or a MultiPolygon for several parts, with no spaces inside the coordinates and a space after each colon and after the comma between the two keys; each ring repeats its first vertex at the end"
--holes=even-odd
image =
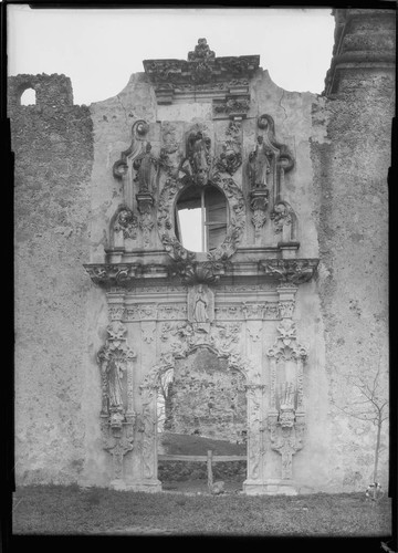
{"type": "MultiPolygon", "coordinates": [[[[388,400],[387,174],[395,86],[394,72],[384,66],[394,48],[394,17],[353,13],[349,18],[335,53],[356,63],[335,76],[325,104],[314,105],[314,128],[326,124],[327,136],[312,142],[314,186],[320,190],[317,285],[329,383],[331,462],[343,490],[364,489],[371,481],[376,426],[342,409],[358,413],[354,404],[365,397],[356,386],[362,380],[371,386],[378,369],[378,398],[388,400]]],[[[370,407],[363,405],[366,410],[370,407]]],[[[386,487],[388,420],[378,478],[386,487]]]]}

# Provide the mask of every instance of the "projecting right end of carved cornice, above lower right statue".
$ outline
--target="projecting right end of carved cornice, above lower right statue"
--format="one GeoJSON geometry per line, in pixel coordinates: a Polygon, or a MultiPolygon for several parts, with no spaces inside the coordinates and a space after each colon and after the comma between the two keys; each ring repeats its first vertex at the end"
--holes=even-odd
{"type": "Polygon", "coordinates": [[[259,267],[281,283],[302,284],[315,276],[318,259],[268,259],[259,262],[259,267]]]}

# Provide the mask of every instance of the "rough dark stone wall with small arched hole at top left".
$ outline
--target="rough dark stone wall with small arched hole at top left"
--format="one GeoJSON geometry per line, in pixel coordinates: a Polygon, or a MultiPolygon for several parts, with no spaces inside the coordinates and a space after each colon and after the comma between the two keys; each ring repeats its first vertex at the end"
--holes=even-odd
{"type": "Polygon", "coordinates": [[[10,79],[14,170],[17,483],[76,481],[84,466],[84,336],[91,281],[88,108],[64,75],[10,79]],[[24,88],[36,104],[19,106],[24,88]]]}

